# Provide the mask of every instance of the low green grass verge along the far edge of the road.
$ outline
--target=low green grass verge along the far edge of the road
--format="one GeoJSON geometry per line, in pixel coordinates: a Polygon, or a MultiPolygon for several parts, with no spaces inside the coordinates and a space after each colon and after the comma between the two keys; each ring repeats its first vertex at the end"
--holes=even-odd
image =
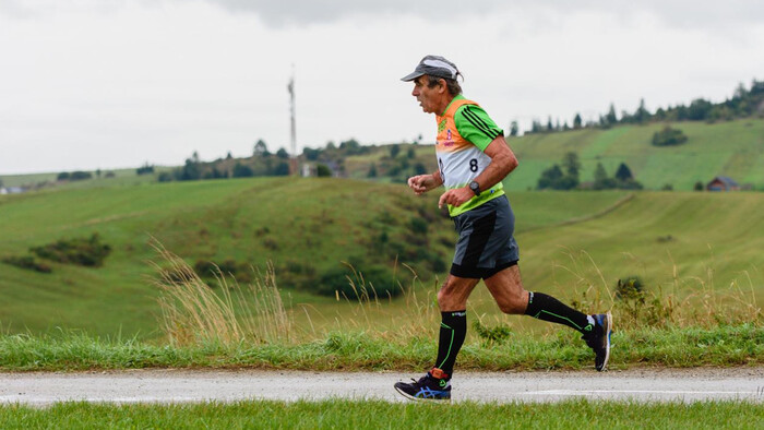
{"type": "MultiPolygon", "coordinates": [[[[571,331],[511,334],[464,346],[457,367],[474,370],[585,369],[592,351],[571,331]]],[[[754,324],[642,329],[616,332],[610,367],[764,365],[764,327],[754,324]]],[[[77,333],[0,336],[0,370],[91,370],[142,368],[260,368],[301,370],[411,370],[432,365],[430,336],[329,333],[303,344],[203,343],[155,345],[77,333]]]]}

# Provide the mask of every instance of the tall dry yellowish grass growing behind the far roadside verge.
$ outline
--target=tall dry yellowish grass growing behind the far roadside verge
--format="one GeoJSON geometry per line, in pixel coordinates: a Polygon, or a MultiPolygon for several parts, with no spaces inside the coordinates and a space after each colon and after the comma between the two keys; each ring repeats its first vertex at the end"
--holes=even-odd
{"type": "MultiPolygon", "coordinates": [[[[171,344],[303,343],[325,339],[333,331],[362,332],[371,337],[405,343],[413,338],[432,338],[439,326],[438,279],[432,287],[425,286],[416,272],[405,264],[402,266],[410,273],[410,285],[404,286],[396,280],[402,290],[402,298],[396,300],[405,303],[403,310],[399,306],[390,307],[393,299],[379,297],[362,272],[348,264],[353,274],[346,279],[354,291],[353,297],[337,292],[336,299],[347,306],[333,316],[334,324],[321,324],[317,330],[313,318],[325,322],[332,316],[327,318],[309,304],[286,310],[272,264],[264,272],[253,270],[254,280],[243,287],[218,270],[220,287],[213,289],[181,258],[158,242],[155,248],[160,256],[160,263],[154,264],[159,273],[154,283],[162,290],[160,325],[171,344]],[[307,326],[295,323],[295,312],[305,312],[307,326]]],[[[396,264],[396,271],[397,267],[396,264]]],[[[668,282],[636,289],[628,284],[616,287],[609,283],[585,251],[570,252],[570,264],[557,268],[574,275],[576,296],[572,300],[573,307],[587,313],[611,310],[618,330],[740,323],[761,325],[763,322],[753,280],[761,277],[761,273],[755,270],[753,274],[743,272],[739,280],[727,288],[718,288],[714,285],[712,270],[707,270],[704,277],[680,277],[675,264],[668,282]]],[[[397,275],[395,277],[397,279],[397,275]]],[[[504,331],[511,331],[502,323],[498,327],[484,326],[480,315],[478,319],[478,335],[484,339],[503,336],[506,335],[504,331]]]]}

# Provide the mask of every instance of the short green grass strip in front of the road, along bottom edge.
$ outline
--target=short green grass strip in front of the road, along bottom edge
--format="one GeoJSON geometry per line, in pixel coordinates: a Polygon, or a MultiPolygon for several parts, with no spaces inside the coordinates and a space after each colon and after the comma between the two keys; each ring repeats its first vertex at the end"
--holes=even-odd
{"type": "Polygon", "coordinates": [[[566,401],[450,406],[382,401],[237,402],[49,408],[0,406],[2,428],[762,428],[760,406],[736,402],[638,404],[566,401]]]}

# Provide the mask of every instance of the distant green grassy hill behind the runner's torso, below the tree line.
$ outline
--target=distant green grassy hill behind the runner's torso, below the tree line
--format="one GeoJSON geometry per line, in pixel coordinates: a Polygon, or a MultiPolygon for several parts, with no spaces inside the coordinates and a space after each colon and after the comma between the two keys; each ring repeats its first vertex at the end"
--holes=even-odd
{"type": "MultiPolygon", "coordinates": [[[[764,120],[676,122],[671,127],[682,130],[688,142],[672,147],[653,146],[653,134],[664,127],[664,123],[619,126],[609,130],[584,129],[509,139],[520,167],[504,186],[512,191],[533,190],[544,169],[559,164],[565,153],[574,152],[582,162],[584,182],[594,180],[597,163],[610,176],[619,164],[625,163],[636,180],[649,190],[670,184],[675,190],[690,191],[696,181],[705,184],[719,175],[764,190],[764,120]]],[[[431,145],[404,145],[395,159],[391,159],[389,147],[382,146],[371,154],[348,157],[346,167],[357,178],[366,177],[371,163],[378,169],[382,166],[383,172],[384,166],[397,165],[406,158],[409,147],[415,148],[416,155],[408,165],[422,163],[428,170],[435,169],[431,145]]]]}

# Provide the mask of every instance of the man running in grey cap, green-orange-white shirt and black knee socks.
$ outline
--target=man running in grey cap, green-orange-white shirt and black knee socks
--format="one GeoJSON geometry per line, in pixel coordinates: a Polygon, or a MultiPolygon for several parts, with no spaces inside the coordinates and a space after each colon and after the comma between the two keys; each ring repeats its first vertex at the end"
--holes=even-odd
{"type": "Polygon", "coordinates": [[[486,111],[462,95],[454,63],[425,57],[402,81],[414,81],[411,95],[422,110],[435,114],[438,171],[408,179],[416,194],[445,187],[444,204],[458,240],[451,273],[438,292],[442,322],[433,368],[418,381],[398,382],[395,390],[413,399],[450,399],[456,355],[467,333],[467,298],[480,279],[504,313],[525,314],[564,324],[583,335],[595,353],[595,368],[606,369],[610,356],[610,312],[586,315],[551,296],[523,288],[513,237],[514,214],[502,180],[517,158],[486,111]]]}

